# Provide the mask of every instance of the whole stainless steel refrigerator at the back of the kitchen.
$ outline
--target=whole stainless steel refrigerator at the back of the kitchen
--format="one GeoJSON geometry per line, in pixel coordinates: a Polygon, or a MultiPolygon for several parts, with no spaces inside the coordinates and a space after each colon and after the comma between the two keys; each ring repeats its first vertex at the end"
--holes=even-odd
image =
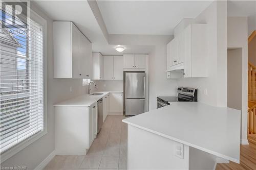
{"type": "Polygon", "coordinates": [[[124,112],[137,115],[145,112],[145,72],[124,71],[124,112]]]}

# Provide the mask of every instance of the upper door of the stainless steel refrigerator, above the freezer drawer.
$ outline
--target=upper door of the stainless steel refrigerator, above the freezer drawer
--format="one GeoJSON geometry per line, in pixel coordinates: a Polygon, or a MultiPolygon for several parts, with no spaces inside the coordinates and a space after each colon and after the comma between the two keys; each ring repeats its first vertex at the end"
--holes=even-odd
{"type": "Polygon", "coordinates": [[[125,98],[145,98],[145,72],[125,73],[125,98]]]}

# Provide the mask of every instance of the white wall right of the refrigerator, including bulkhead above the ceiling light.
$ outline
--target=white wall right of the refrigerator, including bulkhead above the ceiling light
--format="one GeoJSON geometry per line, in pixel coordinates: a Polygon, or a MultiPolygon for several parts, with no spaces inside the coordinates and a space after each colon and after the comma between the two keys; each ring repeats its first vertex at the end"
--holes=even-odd
{"type": "Polygon", "coordinates": [[[166,44],[172,35],[110,35],[110,44],[153,45],[148,55],[149,110],[156,109],[156,96],[177,95],[177,80],[166,79],[166,44]]]}

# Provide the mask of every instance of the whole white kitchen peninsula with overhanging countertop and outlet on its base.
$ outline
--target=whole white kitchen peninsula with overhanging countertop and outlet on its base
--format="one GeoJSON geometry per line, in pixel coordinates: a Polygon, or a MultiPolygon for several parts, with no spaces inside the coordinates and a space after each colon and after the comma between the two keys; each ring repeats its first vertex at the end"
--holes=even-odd
{"type": "Polygon", "coordinates": [[[215,169],[216,157],[239,163],[239,110],[199,102],[172,104],[128,124],[128,169],[215,169]]]}

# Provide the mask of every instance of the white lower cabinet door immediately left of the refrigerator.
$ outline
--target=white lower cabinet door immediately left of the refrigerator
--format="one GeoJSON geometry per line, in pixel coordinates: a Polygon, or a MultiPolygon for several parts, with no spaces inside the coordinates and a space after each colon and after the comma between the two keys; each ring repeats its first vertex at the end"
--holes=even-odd
{"type": "Polygon", "coordinates": [[[122,93],[110,93],[110,113],[122,112],[122,93]]]}

